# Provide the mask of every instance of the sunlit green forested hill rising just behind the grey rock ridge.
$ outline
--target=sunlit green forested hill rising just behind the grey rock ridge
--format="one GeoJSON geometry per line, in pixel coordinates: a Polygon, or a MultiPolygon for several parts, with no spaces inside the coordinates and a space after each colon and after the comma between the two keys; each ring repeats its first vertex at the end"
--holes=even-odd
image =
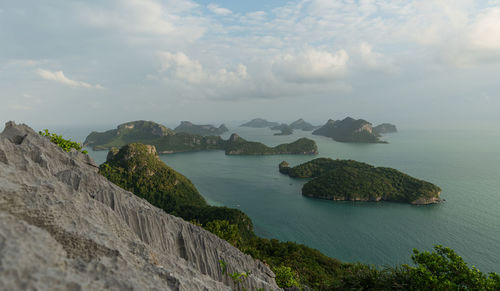
{"type": "Polygon", "coordinates": [[[111,150],[99,172],[111,182],[165,212],[206,225],[227,221],[240,235],[253,235],[250,218],[238,209],[209,206],[189,179],[163,163],[152,146],[129,144],[111,150]]]}

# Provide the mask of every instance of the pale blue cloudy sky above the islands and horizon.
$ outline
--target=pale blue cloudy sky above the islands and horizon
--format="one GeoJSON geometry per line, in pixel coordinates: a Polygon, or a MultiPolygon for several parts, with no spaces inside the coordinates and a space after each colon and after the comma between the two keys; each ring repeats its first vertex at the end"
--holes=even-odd
{"type": "Polygon", "coordinates": [[[2,0],[0,121],[500,124],[500,1],[2,0]]]}

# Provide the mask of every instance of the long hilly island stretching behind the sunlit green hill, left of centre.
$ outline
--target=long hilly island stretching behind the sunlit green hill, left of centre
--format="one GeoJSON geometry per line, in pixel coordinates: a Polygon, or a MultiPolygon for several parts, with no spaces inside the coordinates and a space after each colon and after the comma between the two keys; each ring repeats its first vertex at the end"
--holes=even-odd
{"type": "Polygon", "coordinates": [[[152,121],[132,121],[121,124],[117,129],[92,132],[85,139],[84,146],[94,150],[121,148],[130,143],[155,146],[160,154],[223,150],[227,155],[278,155],[316,154],[318,148],[313,140],[302,138],[293,143],[268,147],[259,142],[247,141],[236,134],[228,140],[220,136],[201,136],[186,132],[175,132],[152,121]]]}

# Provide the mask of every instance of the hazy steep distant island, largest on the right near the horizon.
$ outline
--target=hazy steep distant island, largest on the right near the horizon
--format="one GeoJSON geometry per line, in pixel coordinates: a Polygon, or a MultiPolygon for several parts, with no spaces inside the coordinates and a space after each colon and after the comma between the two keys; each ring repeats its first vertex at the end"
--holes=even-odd
{"type": "Polygon", "coordinates": [[[343,120],[330,119],[312,134],[331,137],[338,142],[387,143],[380,140],[379,135],[373,132],[371,123],[351,117],[343,120]]]}

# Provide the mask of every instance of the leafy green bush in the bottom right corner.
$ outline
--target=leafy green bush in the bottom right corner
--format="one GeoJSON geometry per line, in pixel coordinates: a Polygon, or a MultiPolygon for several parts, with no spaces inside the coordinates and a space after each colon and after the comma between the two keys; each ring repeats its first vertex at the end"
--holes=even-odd
{"type": "Polygon", "coordinates": [[[500,276],[483,274],[450,248],[436,245],[434,252],[413,250],[416,267],[405,265],[412,290],[500,290],[500,276]]]}

